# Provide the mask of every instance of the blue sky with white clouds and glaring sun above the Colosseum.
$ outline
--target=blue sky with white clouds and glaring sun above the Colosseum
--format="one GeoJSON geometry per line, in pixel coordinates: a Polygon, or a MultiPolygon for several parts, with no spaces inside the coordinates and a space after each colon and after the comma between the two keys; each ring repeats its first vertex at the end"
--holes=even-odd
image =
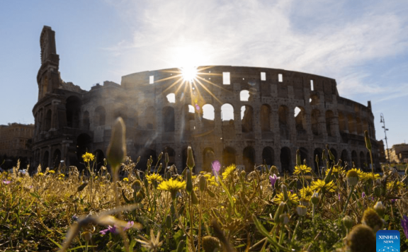
{"type": "Polygon", "coordinates": [[[55,30],[64,81],[81,88],[137,71],[271,67],[336,79],[371,101],[377,139],[408,140],[408,2],[0,1],[0,124],[33,123],[40,32],[55,30]]]}

